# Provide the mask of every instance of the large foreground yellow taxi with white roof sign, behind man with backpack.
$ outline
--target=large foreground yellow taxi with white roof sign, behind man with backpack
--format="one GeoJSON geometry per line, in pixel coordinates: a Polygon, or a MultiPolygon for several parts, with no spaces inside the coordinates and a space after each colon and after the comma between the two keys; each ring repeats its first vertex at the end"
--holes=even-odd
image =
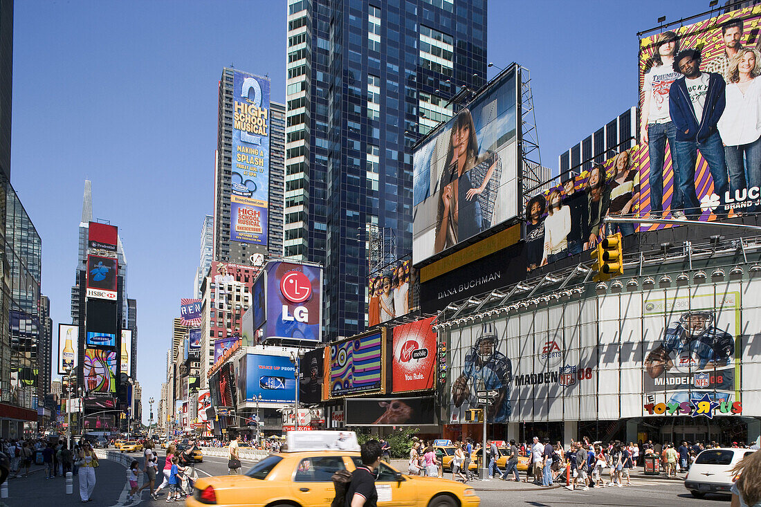
{"type": "MultiPolygon", "coordinates": [[[[333,474],[352,471],[361,464],[353,432],[319,432],[352,434],[354,445],[298,445],[298,437],[288,432],[288,451],[270,454],[254,464],[244,475],[202,477],[196,480],[189,507],[205,505],[250,505],[252,507],[329,507],[336,496],[333,474]],[[304,450],[311,447],[312,450],[304,450]],[[351,448],[353,450],[340,450],[351,448]]],[[[310,431],[310,444],[317,437],[310,431]]],[[[305,439],[306,437],[304,437],[305,439]]],[[[331,437],[326,437],[326,441],[331,437]]],[[[348,438],[349,441],[351,438],[348,438]]],[[[304,440],[301,440],[304,442],[304,440]]],[[[333,444],[339,440],[332,437],[333,444]]],[[[342,444],[345,441],[341,441],[342,444]]],[[[454,480],[401,474],[386,463],[378,466],[378,507],[479,507],[475,489],[454,480]]]]}

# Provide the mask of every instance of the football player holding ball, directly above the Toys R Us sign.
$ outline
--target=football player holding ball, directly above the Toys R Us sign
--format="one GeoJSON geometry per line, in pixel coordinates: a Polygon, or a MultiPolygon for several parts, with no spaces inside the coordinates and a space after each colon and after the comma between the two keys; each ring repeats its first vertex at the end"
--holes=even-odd
{"type": "Polygon", "coordinates": [[[663,341],[645,359],[651,378],[677,368],[683,371],[723,368],[734,355],[734,338],[715,327],[711,311],[687,311],[669,325],[663,341]]]}

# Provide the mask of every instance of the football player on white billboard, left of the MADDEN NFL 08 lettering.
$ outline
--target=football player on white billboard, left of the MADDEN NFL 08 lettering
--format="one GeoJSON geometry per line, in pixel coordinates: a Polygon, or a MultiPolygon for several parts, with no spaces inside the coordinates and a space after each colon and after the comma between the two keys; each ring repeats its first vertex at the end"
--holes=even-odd
{"type": "Polygon", "coordinates": [[[513,368],[510,359],[498,352],[498,345],[494,324],[482,324],[481,336],[465,356],[463,373],[452,384],[452,402],[457,408],[466,401],[470,407],[478,407],[476,391],[497,391],[486,410],[489,422],[507,422],[511,413],[508,387],[513,368]]]}

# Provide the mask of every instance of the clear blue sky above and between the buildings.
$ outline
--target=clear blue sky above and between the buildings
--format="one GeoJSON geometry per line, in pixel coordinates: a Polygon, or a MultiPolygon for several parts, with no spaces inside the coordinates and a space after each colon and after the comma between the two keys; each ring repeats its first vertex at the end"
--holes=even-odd
{"type": "MultiPolygon", "coordinates": [[[[42,237],[54,329],[70,322],[89,179],[94,217],[117,225],[126,249],[143,400],[160,397],[172,319],[192,295],[212,212],[221,68],[269,75],[272,100],[284,101],[285,5],[16,2],[11,183],[42,237]]],[[[491,0],[488,59],[530,69],[543,165],[557,171],[560,152],[636,104],[639,30],[703,8],[491,0]]]]}

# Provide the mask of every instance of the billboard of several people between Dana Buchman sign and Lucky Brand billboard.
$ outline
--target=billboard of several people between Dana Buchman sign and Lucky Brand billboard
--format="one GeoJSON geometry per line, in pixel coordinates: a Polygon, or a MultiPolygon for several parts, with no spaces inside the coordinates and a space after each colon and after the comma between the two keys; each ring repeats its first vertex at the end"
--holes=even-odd
{"type": "Polygon", "coordinates": [[[638,214],[641,156],[634,146],[579,175],[562,174],[560,184],[531,196],[524,234],[528,272],[594,248],[606,235],[634,234],[635,225],[605,224],[603,218],[638,214]]]}

